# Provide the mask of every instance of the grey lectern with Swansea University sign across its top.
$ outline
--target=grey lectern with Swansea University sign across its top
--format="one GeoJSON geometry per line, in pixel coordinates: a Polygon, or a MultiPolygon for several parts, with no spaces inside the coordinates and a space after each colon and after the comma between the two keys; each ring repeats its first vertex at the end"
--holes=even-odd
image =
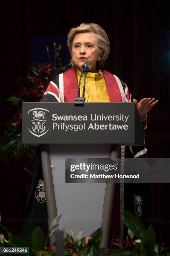
{"type": "Polygon", "coordinates": [[[40,144],[48,224],[64,210],[62,229],[88,236],[102,226],[107,246],[115,184],[65,183],[65,159],[118,158],[118,145],[143,145],[135,103],[23,103],[23,143],[40,144]]]}

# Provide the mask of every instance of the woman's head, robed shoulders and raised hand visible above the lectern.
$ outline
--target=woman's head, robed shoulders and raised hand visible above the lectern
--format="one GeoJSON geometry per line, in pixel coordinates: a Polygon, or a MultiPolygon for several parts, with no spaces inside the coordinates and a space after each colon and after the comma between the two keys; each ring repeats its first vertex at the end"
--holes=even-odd
{"type": "MultiPolygon", "coordinates": [[[[87,73],[85,102],[131,102],[128,87],[117,76],[101,70],[110,51],[110,43],[104,29],[95,23],[82,23],[68,33],[67,45],[72,68],[50,82],[42,102],[74,102],[78,90],[82,64],[92,61],[87,73]]],[[[83,80],[80,85],[82,95],[83,80]]],[[[156,105],[158,100],[144,98],[135,102],[140,118],[156,105]]]]}

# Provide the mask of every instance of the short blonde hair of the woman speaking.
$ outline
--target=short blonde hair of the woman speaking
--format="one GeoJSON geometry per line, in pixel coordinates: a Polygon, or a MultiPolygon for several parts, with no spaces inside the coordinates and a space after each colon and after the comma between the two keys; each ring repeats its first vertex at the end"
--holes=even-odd
{"type": "MultiPolygon", "coordinates": [[[[77,28],[71,28],[70,32],[67,35],[67,46],[70,50],[70,54],[72,57],[72,42],[77,34],[80,33],[94,33],[97,39],[97,46],[101,51],[101,58],[97,60],[96,66],[97,69],[101,69],[107,59],[107,56],[110,51],[110,42],[109,38],[102,27],[95,23],[82,23],[77,28]]],[[[70,62],[72,67],[75,67],[75,63],[73,59],[70,62]]]]}

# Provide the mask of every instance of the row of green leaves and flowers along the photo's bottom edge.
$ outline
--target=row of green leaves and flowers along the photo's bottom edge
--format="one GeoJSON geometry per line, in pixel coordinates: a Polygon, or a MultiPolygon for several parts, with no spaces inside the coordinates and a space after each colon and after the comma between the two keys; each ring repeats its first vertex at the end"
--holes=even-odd
{"type": "MultiPolygon", "coordinates": [[[[63,212],[62,212],[63,214],[63,212]]],[[[58,228],[58,222],[61,215],[57,216],[50,226],[50,231],[45,238],[42,230],[37,227],[32,232],[30,244],[23,239],[14,236],[5,227],[8,234],[8,241],[3,234],[0,234],[0,247],[29,247],[30,256],[49,256],[54,255],[52,248],[48,247],[49,236],[54,235],[58,228]]],[[[122,219],[124,224],[131,228],[128,230],[126,241],[123,239],[116,239],[110,244],[110,249],[100,248],[102,241],[102,228],[95,230],[90,236],[81,238],[81,230],[76,238],[73,238],[73,232],[66,234],[64,243],[64,255],[70,256],[170,256],[168,248],[163,245],[159,246],[155,242],[155,231],[152,225],[148,229],[145,228],[143,223],[130,212],[122,211],[122,219]],[[136,238],[134,238],[136,237],[136,238]]],[[[21,254],[22,255],[22,254],[21,254]]],[[[25,255],[25,254],[23,254],[25,255]]]]}

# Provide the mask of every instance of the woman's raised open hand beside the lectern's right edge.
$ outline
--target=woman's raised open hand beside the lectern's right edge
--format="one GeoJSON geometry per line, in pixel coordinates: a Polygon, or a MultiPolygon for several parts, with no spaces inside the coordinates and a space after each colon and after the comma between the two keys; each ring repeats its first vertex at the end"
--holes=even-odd
{"type": "Polygon", "coordinates": [[[140,118],[144,118],[145,115],[158,103],[158,100],[155,100],[155,98],[144,98],[140,100],[140,102],[134,99],[133,102],[136,104],[140,118]]]}

